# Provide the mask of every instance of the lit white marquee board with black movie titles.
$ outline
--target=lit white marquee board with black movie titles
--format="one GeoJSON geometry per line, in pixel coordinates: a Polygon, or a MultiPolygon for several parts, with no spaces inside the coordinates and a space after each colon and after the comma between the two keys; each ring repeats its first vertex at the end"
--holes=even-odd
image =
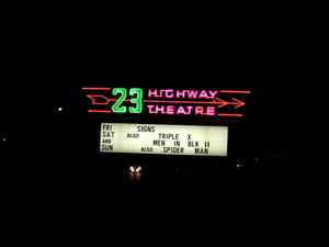
{"type": "Polygon", "coordinates": [[[102,123],[101,153],[227,156],[227,126],[102,123]]]}

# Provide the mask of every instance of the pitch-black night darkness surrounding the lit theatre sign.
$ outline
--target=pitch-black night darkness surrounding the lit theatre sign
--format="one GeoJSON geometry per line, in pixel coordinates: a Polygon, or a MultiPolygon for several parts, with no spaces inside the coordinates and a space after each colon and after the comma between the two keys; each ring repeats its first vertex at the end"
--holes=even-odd
{"type": "Polygon", "coordinates": [[[156,232],[156,245],[172,236],[184,245],[195,236],[205,245],[209,235],[219,245],[224,237],[262,245],[326,237],[328,103],[319,70],[326,71],[327,29],[322,20],[314,23],[317,11],[300,5],[242,7],[243,15],[237,5],[228,16],[226,9],[190,4],[159,16],[162,7],[145,8],[152,16],[137,8],[133,16],[128,7],[103,14],[58,5],[50,16],[55,5],[35,8],[44,16],[8,11],[0,76],[3,235],[12,243],[26,242],[26,233],[53,240],[120,229],[120,243],[135,244],[156,232]],[[229,127],[234,169],[207,157],[100,154],[100,121],[86,113],[81,87],[113,85],[250,90],[243,119],[229,127]],[[280,169],[236,169],[275,155],[284,158],[280,169]],[[136,160],[151,165],[140,183],[125,169],[136,160]]]}

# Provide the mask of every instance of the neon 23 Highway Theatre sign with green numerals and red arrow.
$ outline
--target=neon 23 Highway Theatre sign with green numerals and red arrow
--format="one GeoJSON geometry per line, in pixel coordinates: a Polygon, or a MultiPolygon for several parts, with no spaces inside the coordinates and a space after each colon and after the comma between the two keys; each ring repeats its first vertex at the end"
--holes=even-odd
{"type": "Polygon", "coordinates": [[[92,88],[82,90],[91,113],[241,117],[251,91],[209,89],[92,88]]]}

